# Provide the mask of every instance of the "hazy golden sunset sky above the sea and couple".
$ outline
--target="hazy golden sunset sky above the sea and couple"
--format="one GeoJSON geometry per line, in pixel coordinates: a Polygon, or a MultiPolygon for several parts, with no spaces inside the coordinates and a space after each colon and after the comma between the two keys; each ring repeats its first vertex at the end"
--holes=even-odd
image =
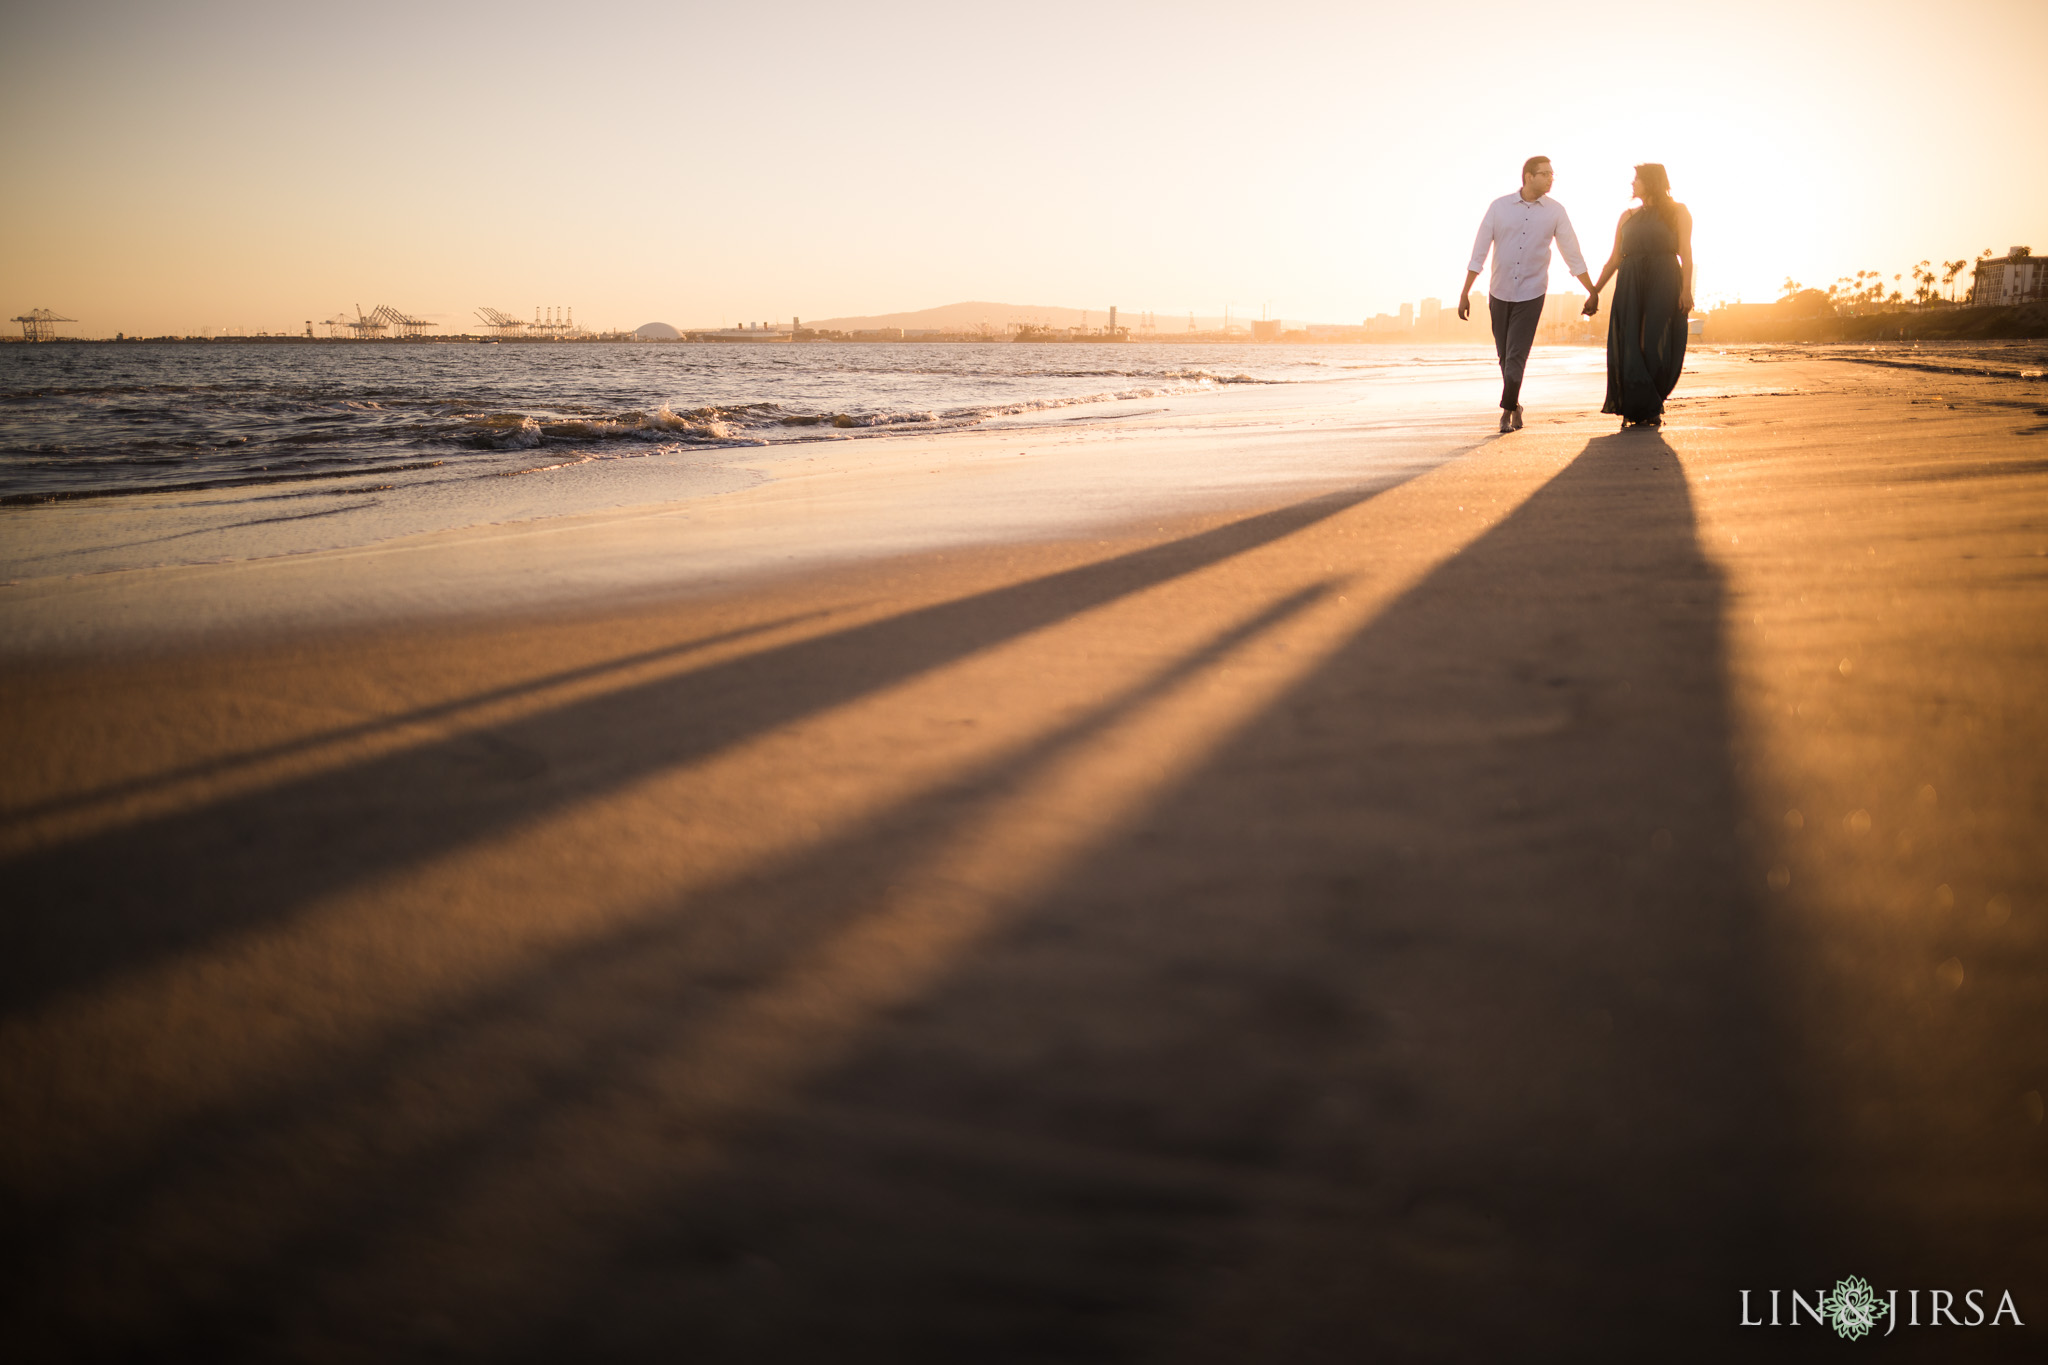
{"type": "Polygon", "coordinates": [[[1532,153],[1595,268],[1659,160],[1702,299],[1769,299],[2048,250],[2044,57],[2040,0],[14,0],[0,317],[1346,321],[1452,299],[1532,153]]]}

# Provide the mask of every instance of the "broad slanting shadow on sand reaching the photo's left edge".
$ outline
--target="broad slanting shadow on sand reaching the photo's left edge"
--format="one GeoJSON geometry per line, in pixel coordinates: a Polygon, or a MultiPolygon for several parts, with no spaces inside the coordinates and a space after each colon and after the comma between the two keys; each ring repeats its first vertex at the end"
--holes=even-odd
{"type": "Polygon", "coordinates": [[[1315,497],[8,860],[0,1013],[287,919],[344,886],[1223,563],[1376,491],[1315,497]]]}

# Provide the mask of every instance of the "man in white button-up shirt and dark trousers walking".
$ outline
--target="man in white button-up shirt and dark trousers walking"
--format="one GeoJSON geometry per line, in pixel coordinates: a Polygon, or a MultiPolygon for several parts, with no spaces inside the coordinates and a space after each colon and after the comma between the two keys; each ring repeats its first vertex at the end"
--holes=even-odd
{"type": "Polygon", "coordinates": [[[1587,313],[1595,307],[1593,276],[1579,254],[1579,235],[1571,231],[1565,205],[1550,199],[1550,158],[1532,156],[1522,162],[1522,190],[1501,194],[1487,205],[1473,241],[1473,264],[1458,291],[1458,321],[1473,315],[1473,280],[1493,252],[1493,276],[1487,280],[1487,309],[1493,313],[1493,350],[1501,358],[1501,432],[1522,430],[1522,370],[1542,321],[1542,297],[1550,289],[1550,241],[1565,254],[1565,264],[1585,284],[1587,313]]]}

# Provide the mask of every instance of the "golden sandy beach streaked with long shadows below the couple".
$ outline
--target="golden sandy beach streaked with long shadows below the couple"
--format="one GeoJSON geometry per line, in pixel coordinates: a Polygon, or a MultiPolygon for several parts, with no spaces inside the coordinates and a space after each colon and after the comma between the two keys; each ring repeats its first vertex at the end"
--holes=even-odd
{"type": "Polygon", "coordinates": [[[37,522],[8,1355],[2034,1359],[2048,387],[1587,356],[37,522]]]}

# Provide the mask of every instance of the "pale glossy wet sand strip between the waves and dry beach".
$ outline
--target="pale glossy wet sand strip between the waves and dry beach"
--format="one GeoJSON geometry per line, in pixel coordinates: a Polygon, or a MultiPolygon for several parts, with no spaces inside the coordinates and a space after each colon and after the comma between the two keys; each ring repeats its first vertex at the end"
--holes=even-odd
{"type": "MultiPolygon", "coordinates": [[[[1716,358],[1704,364],[1726,368],[1716,358]]],[[[1491,436],[1485,399],[1495,381],[1470,379],[1466,368],[1477,375],[1491,362],[1116,399],[938,434],[686,450],[676,456],[678,471],[698,485],[717,483],[680,497],[659,473],[662,456],[565,467],[526,479],[567,483],[520,479],[506,487],[530,487],[532,497],[549,487],[573,497],[588,487],[604,501],[575,512],[532,501],[532,512],[504,520],[457,514],[461,524],[414,534],[375,534],[377,522],[369,522],[369,534],[348,542],[276,540],[334,536],[326,518],[215,532],[209,522],[180,520],[207,516],[209,499],[188,495],[6,510],[0,518],[20,528],[10,546],[14,565],[55,561],[68,571],[27,575],[16,567],[0,585],[0,653],[31,655],[55,639],[90,651],[98,647],[92,641],[123,634],[229,626],[238,614],[250,622],[307,624],[324,614],[365,622],[385,610],[379,602],[399,616],[508,604],[575,610],[578,593],[690,591],[692,575],[727,583],[920,546],[1087,536],[1145,518],[1270,501],[1290,489],[1386,481],[1491,436]],[[637,483],[618,485],[621,473],[637,483]],[[635,497],[616,487],[645,491],[635,497]],[[166,534],[193,561],[121,559],[137,553],[123,546],[147,553],[166,534]],[[233,536],[256,553],[223,553],[238,546],[233,536]],[[113,548],[96,551],[100,542],[113,548]],[[164,585],[160,598],[156,583],[164,585]],[[94,606],[102,602],[123,606],[94,606]]],[[[1542,375],[1563,405],[1597,395],[1583,358],[1550,356],[1532,375],[1542,375]]],[[[236,493],[219,501],[229,516],[213,520],[231,522],[231,510],[244,505],[236,493]]]]}

